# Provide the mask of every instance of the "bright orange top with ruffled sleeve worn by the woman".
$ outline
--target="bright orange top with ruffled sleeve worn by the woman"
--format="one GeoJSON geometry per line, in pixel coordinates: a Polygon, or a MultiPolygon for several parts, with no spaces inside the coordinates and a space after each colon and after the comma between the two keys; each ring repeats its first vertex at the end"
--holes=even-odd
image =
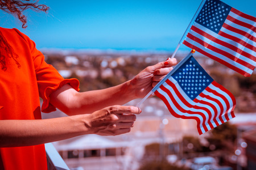
{"type": "MultiPolygon", "coordinates": [[[[7,70],[0,69],[0,120],[41,119],[42,111],[52,112],[56,108],[49,103],[49,95],[64,84],[79,91],[77,79],[63,79],[35,43],[18,29],[1,28],[3,36],[18,54],[18,68],[14,59],[7,58],[7,70]]],[[[3,49],[0,49],[4,53],[3,49]]],[[[47,169],[44,145],[0,148],[0,169],[47,169]]]]}

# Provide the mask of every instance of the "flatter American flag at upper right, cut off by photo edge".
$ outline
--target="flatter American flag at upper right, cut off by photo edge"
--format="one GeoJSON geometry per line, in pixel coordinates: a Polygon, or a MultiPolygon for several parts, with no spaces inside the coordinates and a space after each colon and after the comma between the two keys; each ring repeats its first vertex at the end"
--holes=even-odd
{"type": "Polygon", "coordinates": [[[183,44],[244,76],[256,66],[256,18],[207,0],[183,44]]]}

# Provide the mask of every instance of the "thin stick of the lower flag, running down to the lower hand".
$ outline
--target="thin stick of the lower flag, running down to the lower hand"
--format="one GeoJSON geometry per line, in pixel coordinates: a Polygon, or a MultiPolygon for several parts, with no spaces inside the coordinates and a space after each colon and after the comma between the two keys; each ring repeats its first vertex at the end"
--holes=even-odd
{"type": "Polygon", "coordinates": [[[175,67],[174,69],[172,69],[166,76],[164,76],[164,78],[162,80],[160,80],[160,82],[158,82],[158,84],[156,84],[156,86],[154,88],[152,88],[152,90],[145,96],[143,97],[143,99],[141,101],[139,101],[139,103],[136,105],[136,107],[139,107],[150,95],[154,94],[154,92],[164,83],[166,82],[166,80],[177,70],[179,69],[180,65],[183,65],[183,63],[185,61],[187,61],[187,59],[193,54],[195,53],[196,50],[192,49],[191,52],[188,54],[187,57],[183,58],[175,67]]]}

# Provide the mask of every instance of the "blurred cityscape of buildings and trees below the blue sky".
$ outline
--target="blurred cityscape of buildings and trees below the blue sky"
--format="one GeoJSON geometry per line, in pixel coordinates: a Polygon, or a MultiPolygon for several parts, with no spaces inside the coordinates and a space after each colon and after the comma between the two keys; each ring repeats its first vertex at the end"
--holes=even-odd
{"type": "MultiPolygon", "coordinates": [[[[167,52],[42,50],[64,78],[77,78],[81,91],[108,88],[171,56],[167,52]]],[[[176,54],[180,61],[188,52],[176,54]]],[[[70,169],[256,169],[256,73],[249,78],[193,55],[236,97],[236,118],[199,135],[195,120],[175,118],[162,100],[147,99],[130,133],[83,135],[53,145],[70,169]]],[[[126,105],[136,105],[141,99],[126,105]]],[[[43,118],[66,116],[60,111],[43,118]]]]}

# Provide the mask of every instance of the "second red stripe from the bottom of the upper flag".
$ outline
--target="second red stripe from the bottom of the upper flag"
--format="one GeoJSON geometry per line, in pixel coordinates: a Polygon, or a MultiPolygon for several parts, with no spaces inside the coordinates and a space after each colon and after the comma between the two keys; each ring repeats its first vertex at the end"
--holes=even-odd
{"type": "MultiPolygon", "coordinates": [[[[203,32],[203,31],[202,31],[203,32]]],[[[189,39],[198,42],[199,44],[206,46],[208,49],[212,50],[213,52],[219,53],[222,56],[225,56],[226,58],[232,59],[233,61],[236,61],[237,63],[240,63],[241,65],[248,67],[249,69],[253,70],[255,68],[255,66],[251,65],[250,63],[247,63],[245,61],[243,61],[240,58],[237,58],[235,56],[233,56],[232,54],[225,52],[224,50],[220,49],[220,48],[216,48],[213,45],[208,44],[207,42],[199,39],[196,36],[193,36],[191,33],[188,33],[187,37],[189,37],[189,39]]]]}

